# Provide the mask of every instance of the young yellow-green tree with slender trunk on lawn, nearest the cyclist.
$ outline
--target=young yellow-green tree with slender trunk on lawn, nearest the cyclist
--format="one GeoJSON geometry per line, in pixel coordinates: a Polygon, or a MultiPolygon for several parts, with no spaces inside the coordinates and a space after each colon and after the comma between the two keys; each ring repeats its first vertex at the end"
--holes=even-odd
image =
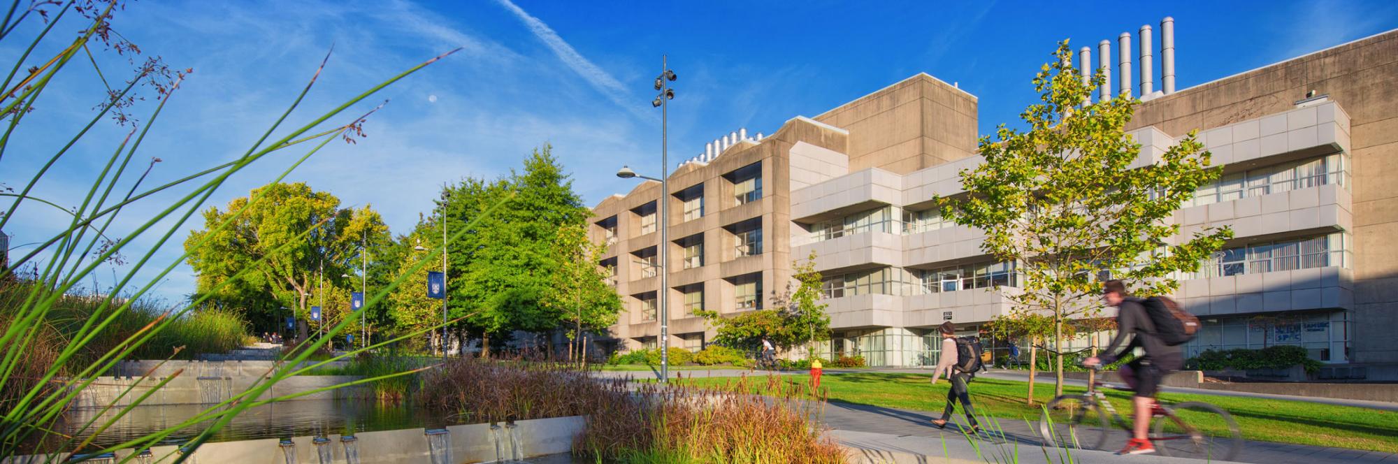
{"type": "MultiPolygon", "coordinates": [[[[1022,292],[1007,292],[1012,310],[1051,317],[1062,347],[1067,320],[1100,312],[1099,273],[1142,295],[1167,293],[1179,285],[1172,274],[1197,270],[1232,231],[1184,238],[1169,221],[1218,176],[1192,131],[1134,168],[1141,145],[1125,124],[1138,101],[1088,103],[1102,73],[1083,82],[1067,41],[1053,57],[1033,80],[1043,102],[1021,115],[1028,127],[1001,124],[995,141],[981,137],[984,164],[960,173],[966,196],[938,201],[944,217],[986,232],[983,250],[1019,266],[1022,292]]],[[[1061,394],[1062,356],[1055,370],[1061,394]]]]}

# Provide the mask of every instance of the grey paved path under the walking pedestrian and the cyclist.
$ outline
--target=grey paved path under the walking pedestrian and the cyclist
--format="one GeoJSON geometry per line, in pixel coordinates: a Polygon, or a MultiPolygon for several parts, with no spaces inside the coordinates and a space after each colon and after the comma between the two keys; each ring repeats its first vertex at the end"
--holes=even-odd
{"type": "MultiPolygon", "coordinates": [[[[923,456],[921,461],[891,460],[895,463],[942,461],[948,458],[946,454],[951,454],[951,457],[955,458],[952,463],[960,463],[965,460],[974,463],[987,461],[976,457],[974,447],[970,446],[966,436],[962,435],[955,425],[948,425],[946,429],[937,429],[931,425],[934,418],[934,414],[927,411],[830,403],[825,407],[821,421],[832,429],[832,436],[839,439],[846,446],[865,449],[867,456],[878,456],[878,451],[920,453],[918,456],[923,456]],[[948,446],[945,454],[942,453],[942,440],[945,440],[948,446]]],[[[958,415],[952,422],[956,423],[956,421],[965,421],[965,416],[958,415]]],[[[983,454],[987,449],[1008,450],[1014,447],[1012,443],[1018,443],[1019,456],[1025,457],[1026,463],[1037,463],[1039,460],[1033,457],[1043,457],[1043,450],[1040,447],[1043,444],[1043,439],[1040,439],[1037,433],[1032,432],[1033,421],[1037,419],[1030,419],[1030,422],[1025,422],[1023,419],[998,419],[997,428],[1001,429],[1004,435],[995,432],[983,433],[979,439],[983,454]]],[[[988,428],[988,423],[983,423],[981,428],[991,429],[988,428]]],[[[1125,443],[1125,440],[1127,433],[1124,430],[1118,430],[1109,437],[1107,444],[1117,446],[1125,443]]],[[[1057,453],[1050,450],[1048,454],[1054,456],[1054,461],[1058,461],[1057,453]]],[[[994,463],[993,457],[987,456],[987,458],[994,463]]],[[[1120,457],[1110,456],[1106,451],[1072,453],[1072,460],[1075,463],[1117,463],[1128,458],[1138,460],[1141,456],[1120,457]]],[[[1139,461],[1180,463],[1192,460],[1139,461]]],[[[1341,447],[1247,442],[1243,444],[1243,451],[1239,453],[1236,461],[1257,464],[1369,464],[1383,461],[1387,464],[1398,463],[1398,454],[1341,447]]]]}

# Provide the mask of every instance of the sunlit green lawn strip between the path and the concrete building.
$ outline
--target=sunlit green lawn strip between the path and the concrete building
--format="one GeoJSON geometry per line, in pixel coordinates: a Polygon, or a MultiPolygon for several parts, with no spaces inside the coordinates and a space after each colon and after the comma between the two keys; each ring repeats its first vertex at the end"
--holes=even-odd
{"type": "MultiPolygon", "coordinates": [[[[734,379],[685,379],[688,384],[723,387],[734,379]]],[[[781,382],[807,384],[809,376],[781,377],[781,382]]],[[[768,379],[748,382],[749,390],[763,393],[768,379]]],[[[941,411],[949,384],[942,380],[928,384],[928,375],[857,372],[825,375],[821,387],[828,389],[830,401],[868,404],[877,407],[941,411]]],[[[977,379],[970,384],[976,412],[997,418],[1030,422],[1039,421],[1039,404],[1053,397],[1053,382],[1035,383],[1035,407],[1025,404],[1028,383],[998,379],[977,379]]],[[[1065,393],[1081,393],[1082,387],[1065,387],[1065,393]]],[[[1107,391],[1111,404],[1130,408],[1130,393],[1107,391]]],[[[1205,394],[1162,393],[1166,403],[1205,401],[1229,411],[1243,436],[1248,440],[1282,442],[1316,446],[1339,446],[1359,450],[1398,453],[1398,412],[1338,407],[1303,401],[1220,397],[1205,394]]],[[[959,409],[958,409],[959,412],[959,409]]],[[[1208,429],[1209,423],[1199,423],[1208,429]]]]}

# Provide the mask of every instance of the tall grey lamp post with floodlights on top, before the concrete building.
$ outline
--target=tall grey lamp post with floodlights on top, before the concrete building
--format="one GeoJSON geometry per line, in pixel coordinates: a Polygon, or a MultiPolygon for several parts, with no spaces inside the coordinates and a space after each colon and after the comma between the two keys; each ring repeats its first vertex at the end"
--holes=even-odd
{"type": "Polygon", "coordinates": [[[670,88],[670,82],[675,81],[675,71],[670,70],[668,57],[660,56],[660,75],[656,77],[656,99],[650,101],[650,106],[660,108],[660,179],[647,177],[637,175],[628,166],[621,166],[617,172],[618,177],[630,179],[640,177],[647,180],[660,182],[660,291],[657,296],[660,298],[660,382],[670,380],[670,152],[668,152],[668,126],[670,126],[670,101],[675,98],[675,89],[670,88]]]}

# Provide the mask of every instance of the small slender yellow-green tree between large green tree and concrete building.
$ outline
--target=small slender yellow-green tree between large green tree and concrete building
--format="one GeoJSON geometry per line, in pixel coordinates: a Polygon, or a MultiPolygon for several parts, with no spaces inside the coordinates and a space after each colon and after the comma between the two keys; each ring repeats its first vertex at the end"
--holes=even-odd
{"type": "Polygon", "coordinates": [[[554,306],[563,317],[563,331],[568,337],[568,358],[586,358],[583,347],[584,331],[600,331],[617,323],[622,310],[617,289],[607,285],[607,274],[598,260],[607,252],[605,246],[587,239],[587,225],[568,225],[559,229],[554,242],[555,260],[554,284],[545,295],[545,303],[554,306]],[[579,347],[579,349],[573,349],[579,347]]]}

